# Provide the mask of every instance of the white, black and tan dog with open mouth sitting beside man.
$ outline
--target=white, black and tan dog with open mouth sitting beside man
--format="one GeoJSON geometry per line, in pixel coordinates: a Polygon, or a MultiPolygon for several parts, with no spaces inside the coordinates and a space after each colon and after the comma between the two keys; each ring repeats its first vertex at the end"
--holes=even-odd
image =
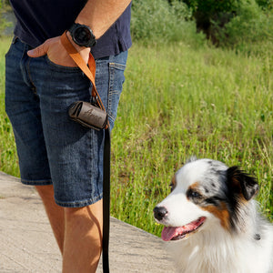
{"type": "Polygon", "coordinates": [[[273,272],[273,226],[258,213],[257,193],[256,179],[238,167],[189,159],[154,208],[177,271],[273,272]]]}

